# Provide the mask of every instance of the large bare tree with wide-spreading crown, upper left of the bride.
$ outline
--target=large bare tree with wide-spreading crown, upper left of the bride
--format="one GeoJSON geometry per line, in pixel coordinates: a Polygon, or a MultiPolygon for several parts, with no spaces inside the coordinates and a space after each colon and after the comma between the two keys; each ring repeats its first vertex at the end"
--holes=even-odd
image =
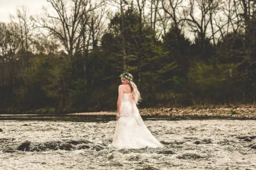
{"type": "MultiPolygon", "coordinates": [[[[51,14],[45,8],[47,18],[41,18],[36,21],[37,27],[48,29],[50,34],[55,35],[64,46],[69,56],[72,78],[74,78],[75,68],[73,60],[77,49],[77,45],[81,42],[82,32],[80,29],[81,22],[88,22],[89,13],[97,9],[103,4],[103,0],[98,3],[91,3],[91,0],[47,0],[53,7],[55,14],[51,14]]],[[[80,50],[80,49],[79,49],[80,50]]]]}

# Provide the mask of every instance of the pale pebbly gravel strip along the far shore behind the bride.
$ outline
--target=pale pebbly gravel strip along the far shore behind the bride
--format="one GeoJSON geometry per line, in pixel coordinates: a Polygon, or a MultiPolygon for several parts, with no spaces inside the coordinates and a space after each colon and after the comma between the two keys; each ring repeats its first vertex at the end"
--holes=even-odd
{"type": "MultiPolygon", "coordinates": [[[[184,107],[184,108],[140,108],[140,115],[159,115],[170,117],[211,117],[256,119],[255,105],[184,107]]],[[[71,115],[116,115],[116,112],[70,113],[71,115]]]]}

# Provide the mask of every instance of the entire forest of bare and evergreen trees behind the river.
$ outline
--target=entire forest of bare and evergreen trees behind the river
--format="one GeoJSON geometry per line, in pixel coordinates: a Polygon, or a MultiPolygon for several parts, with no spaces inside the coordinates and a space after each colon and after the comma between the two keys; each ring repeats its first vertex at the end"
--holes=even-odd
{"type": "Polygon", "coordinates": [[[0,22],[0,113],[255,104],[255,0],[47,0],[0,22]]]}

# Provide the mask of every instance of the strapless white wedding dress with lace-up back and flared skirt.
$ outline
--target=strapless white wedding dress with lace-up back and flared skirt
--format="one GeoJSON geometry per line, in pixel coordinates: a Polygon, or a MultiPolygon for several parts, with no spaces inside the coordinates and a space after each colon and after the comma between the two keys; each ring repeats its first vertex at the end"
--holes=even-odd
{"type": "Polygon", "coordinates": [[[118,149],[163,147],[144,124],[131,93],[123,95],[120,118],[116,120],[113,141],[109,146],[118,149]]]}

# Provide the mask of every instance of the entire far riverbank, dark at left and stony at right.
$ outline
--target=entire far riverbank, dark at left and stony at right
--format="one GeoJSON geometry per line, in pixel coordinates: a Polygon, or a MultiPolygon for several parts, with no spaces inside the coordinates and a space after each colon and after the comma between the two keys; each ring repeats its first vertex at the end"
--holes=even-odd
{"type": "MultiPolygon", "coordinates": [[[[220,106],[191,106],[191,107],[160,107],[160,108],[140,108],[142,116],[164,116],[172,118],[223,118],[223,119],[256,119],[256,105],[220,105],[220,106]]],[[[78,112],[78,113],[62,113],[56,114],[54,108],[38,109],[29,112],[12,112],[4,113],[13,115],[116,115],[116,111],[102,112],[78,112]]]]}

